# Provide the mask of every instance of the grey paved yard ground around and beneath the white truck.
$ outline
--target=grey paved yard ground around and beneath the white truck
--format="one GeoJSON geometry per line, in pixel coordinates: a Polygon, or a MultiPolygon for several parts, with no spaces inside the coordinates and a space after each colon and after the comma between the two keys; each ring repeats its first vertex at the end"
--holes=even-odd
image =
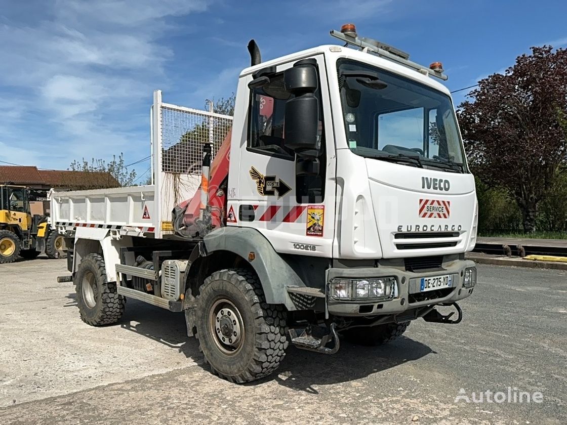
{"type": "MultiPolygon", "coordinates": [[[[479,266],[459,325],[413,322],[378,348],[290,349],[247,385],[210,375],[183,315],[129,300],[91,328],[65,260],[0,265],[0,423],[567,422],[567,272],[479,266]],[[455,402],[459,390],[541,392],[541,403],[455,402]],[[514,390],[517,388],[517,390],[514,390]]],[[[492,400],[492,398],[491,398],[492,400]]]]}

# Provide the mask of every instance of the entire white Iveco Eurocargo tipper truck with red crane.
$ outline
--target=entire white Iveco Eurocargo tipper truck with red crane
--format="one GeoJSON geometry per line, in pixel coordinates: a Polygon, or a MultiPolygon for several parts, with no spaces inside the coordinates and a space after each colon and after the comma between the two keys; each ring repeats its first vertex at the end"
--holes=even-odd
{"type": "Polygon", "coordinates": [[[442,65],[331,35],[268,62],[251,41],[234,117],[155,92],[153,185],[52,193],[83,321],[120,320],[126,298],[184,312],[242,383],[289,343],[333,354],[461,320],[477,202],[442,65]]]}

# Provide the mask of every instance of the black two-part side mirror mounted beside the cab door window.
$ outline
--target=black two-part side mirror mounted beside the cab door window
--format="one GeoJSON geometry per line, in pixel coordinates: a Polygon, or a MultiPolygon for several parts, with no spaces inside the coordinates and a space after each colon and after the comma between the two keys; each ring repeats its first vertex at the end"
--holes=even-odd
{"type": "Polygon", "coordinates": [[[316,61],[303,59],[284,73],[286,91],[295,97],[285,105],[285,139],[287,148],[297,155],[319,156],[319,100],[314,92],[318,88],[316,61]]]}

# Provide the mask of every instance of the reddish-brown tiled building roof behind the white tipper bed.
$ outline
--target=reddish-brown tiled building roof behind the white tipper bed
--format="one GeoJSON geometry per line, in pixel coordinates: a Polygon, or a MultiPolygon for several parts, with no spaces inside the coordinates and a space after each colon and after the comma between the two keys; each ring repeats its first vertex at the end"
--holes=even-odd
{"type": "Polygon", "coordinates": [[[109,172],[38,170],[37,167],[19,165],[0,165],[0,183],[73,190],[120,187],[120,183],[109,172]]]}

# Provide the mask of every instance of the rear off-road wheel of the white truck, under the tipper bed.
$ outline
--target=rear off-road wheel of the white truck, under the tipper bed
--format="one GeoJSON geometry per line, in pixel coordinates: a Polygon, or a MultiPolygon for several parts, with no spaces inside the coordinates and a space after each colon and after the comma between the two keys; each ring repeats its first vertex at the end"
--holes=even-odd
{"type": "Polygon", "coordinates": [[[83,322],[91,326],[101,326],[120,320],[126,299],[118,295],[116,282],[107,281],[103,257],[99,254],[88,254],[84,257],[74,282],[77,305],[83,322]],[[86,285],[91,289],[85,287],[86,285]]]}

